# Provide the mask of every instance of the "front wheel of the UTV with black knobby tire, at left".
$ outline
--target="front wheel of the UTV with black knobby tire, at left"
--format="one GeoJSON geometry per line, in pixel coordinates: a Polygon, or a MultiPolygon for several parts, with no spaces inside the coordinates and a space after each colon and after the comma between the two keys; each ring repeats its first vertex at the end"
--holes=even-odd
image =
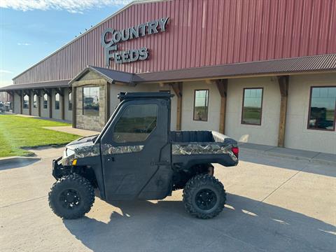
{"type": "Polygon", "coordinates": [[[75,219],[90,211],[94,189],[87,179],[77,174],[64,176],[54,183],[49,193],[49,206],[64,219],[75,219]]]}

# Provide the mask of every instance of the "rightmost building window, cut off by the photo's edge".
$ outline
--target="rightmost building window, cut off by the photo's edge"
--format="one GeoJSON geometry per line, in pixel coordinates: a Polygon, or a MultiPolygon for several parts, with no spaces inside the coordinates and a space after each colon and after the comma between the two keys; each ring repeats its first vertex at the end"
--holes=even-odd
{"type": "Polygon", "coordinates": [[[335,130],[336,86],[311,87],[308,129],[335,130]]]}

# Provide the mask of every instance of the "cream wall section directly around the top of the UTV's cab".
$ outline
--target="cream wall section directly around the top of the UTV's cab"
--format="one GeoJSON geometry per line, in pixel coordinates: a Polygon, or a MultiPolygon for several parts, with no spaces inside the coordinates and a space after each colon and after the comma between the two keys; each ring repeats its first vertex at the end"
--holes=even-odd
{"type": "MultiPolygon", "coordinates": [[[[113,111],[116,109],[116,106],[119,104],[118,94],[120,92],[158,92],[160,90],[170,90],[172,94],[174,91],[171,89],[169,85],[163,85],[161,87],[159,84],[139,84],[135,87],[127,86],[127,85],[110,85],[110,115],[112,115],[113,111]]],[[[171,130],[176,130],[176,113],[177,111],[177,99],[176,96],[172,98],[172,118],[171,118],[171,130]]]]}

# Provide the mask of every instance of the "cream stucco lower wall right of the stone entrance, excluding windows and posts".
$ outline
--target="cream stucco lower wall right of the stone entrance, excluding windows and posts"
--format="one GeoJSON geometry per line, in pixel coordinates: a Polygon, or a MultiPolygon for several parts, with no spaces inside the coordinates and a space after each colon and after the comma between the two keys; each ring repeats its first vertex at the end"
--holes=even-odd
{"type": "MultiPolygon", "coordinates": [[[[336,73],[295,75],[289,78],[285,147],[336,154],[336,132],[307,130],[311,85],[336,85],[336,73]]],[[[111,85],[111,113],[119,92],[171,90],[169,85],[141,84],[137,87],[111,85]]],[[[172,91],[172,93],[174,93],[172,91]]],[[[172,130],[176,129],[176,97],[172,102],[172,130]]],[[[228,80],[225,134],[237,141],[277,146],[280,114],[280,90],[275,77],[233,78],[228,80]],[[261,125],[242,125],[241,109],[244,87],[263,87],[261,125]]],[[[183,83],[182,130],[219,129],[221,96],[214,83],[183,83]],[[209,89],[208,121],[193,120],[194,92],[209,89]]]]}

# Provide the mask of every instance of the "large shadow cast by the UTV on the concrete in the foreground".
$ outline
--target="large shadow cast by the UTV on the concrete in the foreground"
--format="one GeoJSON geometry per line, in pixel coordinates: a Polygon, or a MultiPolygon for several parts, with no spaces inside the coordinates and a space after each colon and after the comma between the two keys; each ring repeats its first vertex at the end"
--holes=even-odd
{"type": "Polygon", "coordinates": [[[228,195],[214,219],[189,216],[183,202],[116,202],[108,223],[64,220],[93,251],[333,251],[336,228],[288,209],[228,195]]]}

